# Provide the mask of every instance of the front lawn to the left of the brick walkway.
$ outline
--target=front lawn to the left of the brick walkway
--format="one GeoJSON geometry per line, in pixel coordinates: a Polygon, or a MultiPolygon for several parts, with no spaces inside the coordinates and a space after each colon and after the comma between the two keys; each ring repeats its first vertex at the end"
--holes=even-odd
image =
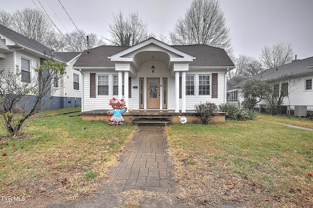
{"type": "Polygon", "coordinates": [[[0,196],[85,198],[99,186],[136,128],[59,113],[35,115],[26,121],[22,137],[1,139],[0,196]]]}

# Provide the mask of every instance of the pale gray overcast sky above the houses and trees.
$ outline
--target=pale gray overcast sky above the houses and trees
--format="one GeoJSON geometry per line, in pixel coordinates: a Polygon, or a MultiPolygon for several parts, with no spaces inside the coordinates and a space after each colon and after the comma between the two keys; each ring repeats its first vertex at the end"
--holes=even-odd
{"type": "MultiPolygon", "coordinates": [[[[59,0],[1,0],[0,8],[14,12],[26,6],[45,8],[61,31],[75,26],[59,0]],[[58,20],[53,11],[57,14],[58,20]]],[[[149,25],[149,32],[168,35],[192,0],[60,0],[79,29],[109,37],[108,23],[119,9],[127,15],[138,12],[149,25]]],[[[293,45],[298,59],[313,56],[313,0],[220,0],[227,26],[230,28],[235,56],[259,57],[262,47],[279,42],[293,45]]],[[[41,8],[42,9],[42,8],[41,8]]]]}

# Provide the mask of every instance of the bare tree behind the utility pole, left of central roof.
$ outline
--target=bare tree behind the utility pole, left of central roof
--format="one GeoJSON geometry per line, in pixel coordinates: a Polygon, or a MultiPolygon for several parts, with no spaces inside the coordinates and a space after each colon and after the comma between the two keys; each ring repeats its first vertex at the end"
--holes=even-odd
{"type": "Polygon", "coordinates": [[[89,37],[89,48],[104,45],[102,39],[95,33],[87,34],[84,30],[75,30],[65,34],[65,45],[62,51],[84,51],[88,48],[87,36],[89,37]]]}

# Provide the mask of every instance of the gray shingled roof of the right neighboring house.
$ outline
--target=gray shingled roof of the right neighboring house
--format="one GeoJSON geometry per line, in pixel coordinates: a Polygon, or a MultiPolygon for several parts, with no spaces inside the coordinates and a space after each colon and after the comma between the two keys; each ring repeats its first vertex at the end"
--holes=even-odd
{"type": "MultiPolygon", "coordinates": [[[[313,69],[308,68],[311,65],[313,65],[313,57],[291,62],[289,64],[285,64],[280,67],[266,69],[265,71],[262,71],[261,73],[258,73],[246,80],[261,79],[264,81],[270,81],[270,80],[275,80],[275,79],[285,77],[285,76],[297,76],[297,75],[302,75],[302,74],[309,74],[309,73],[313,73],[313,69]]],[[[241,81],[235,87],[243,86],[246,83],[246,80],[241,81]]]]}

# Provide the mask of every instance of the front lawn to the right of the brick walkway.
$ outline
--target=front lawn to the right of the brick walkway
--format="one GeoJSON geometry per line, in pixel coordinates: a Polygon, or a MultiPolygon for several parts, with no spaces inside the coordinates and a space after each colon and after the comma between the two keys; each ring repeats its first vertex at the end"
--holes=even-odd
{"type": "Polygon", "coordinates": [[[311,207],[313,121],[262,115],[256,121],[166,128],[177,197],[189,203],[239,207],[311,207]]]}

